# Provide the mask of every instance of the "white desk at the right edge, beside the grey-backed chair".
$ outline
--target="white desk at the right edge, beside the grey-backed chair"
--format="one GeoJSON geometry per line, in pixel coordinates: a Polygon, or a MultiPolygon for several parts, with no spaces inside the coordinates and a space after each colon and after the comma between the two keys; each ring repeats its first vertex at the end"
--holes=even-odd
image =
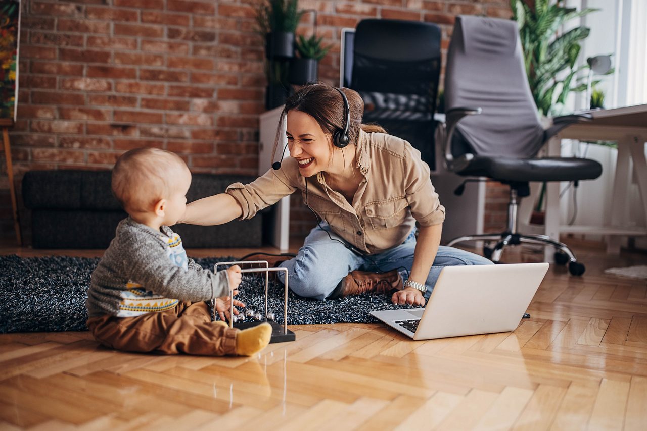
{"type": "MultiPolygon", "coordinates": [[[[628,200],[630,178],[632,174],[635,174],[642,206],[647,216],[647,163],[644,154],[644,143],[647,142],[647,104],[598,110],[592,112],[592,115],[593,121],[573,124],[562,129],[550,140],[548,153],[549,156],[559,156],[562,139],[604,140],[618,143],[613,198],[609,202],[611,205],[611,226],[560,226],[560,184],[549,182],[547,183],[544,235],[553,238],[559,238],[560,233],[608,235],[607,252],[617,254],[620,252],[621,237],[647,235],[647,227],[627,226],[627,214],[623,210],[624,205],[622,205],[628,200]]],[[[533,189],[538,189],[538,184],[535,184],[533,189]]],[[[528,201],[532,201],[532,199],[528,199],[528,201]]],[[[532,204],[532,202],[529,203],[532,204]]],[[[521,220],[527,220],[528,216],[529,213],[525,211],[521,215],[521,220]]],[[[552,255],[552,250],[550,253],[552,255]]]]}

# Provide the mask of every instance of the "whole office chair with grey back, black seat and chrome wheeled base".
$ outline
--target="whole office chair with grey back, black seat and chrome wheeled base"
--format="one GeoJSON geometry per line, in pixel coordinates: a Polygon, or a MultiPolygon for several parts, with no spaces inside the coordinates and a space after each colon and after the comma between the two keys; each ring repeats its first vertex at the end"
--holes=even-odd
{"type": "MultiPolygon", "coordinates": [[[[553,246],[556,262],[568,262],[573,275],[584,265],[558,240],[517,231],[517,200],[529,195],[529,182],[593,180],[602,165],[583,158],[536,158],[551,136],[590,116],[554,118],[543,129],[523,63],[515,21],[476,16],[456,18],[445,70],[444,162],[461,176],[485,176],[510,186],[507,229],[449,242],[496,241],[484,254],[498,262],[505,246],[527,242],[553,246]]],[[[465,183],[464,183],[465,184],[465,183]]],[[[460,188],[460,187],[459,187],[460,188]]]]}

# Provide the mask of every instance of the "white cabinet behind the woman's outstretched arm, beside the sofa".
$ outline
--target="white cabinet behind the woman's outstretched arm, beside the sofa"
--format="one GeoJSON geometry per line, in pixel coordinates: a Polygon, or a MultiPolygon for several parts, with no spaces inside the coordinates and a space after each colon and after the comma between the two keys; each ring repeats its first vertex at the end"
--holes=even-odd
{"type": "MultiPolygon", "coordinates": [[[[274,108],[264,112],[259,121],[259,155],[258,155],[258,174],[262,175],[268,169],[272,169],[272,163],[281,160],[281,150],[287,143],[285,138],[285,121],[281,125],[279,133],[279,143],[276,149],[275,160],[272,160],[272,149],[276,139],[276,127],[281,118],[283,107],[274,108]]],[[[285,149],[285,157],[289,157],[289,151],[285,149]]],[[[281,253],[288,251],[290,240],[290,196],[285,196],[276,204],[272,205],[271,220],[272,233],[270,242],[272,246],[280,249],[281,253]]]]}

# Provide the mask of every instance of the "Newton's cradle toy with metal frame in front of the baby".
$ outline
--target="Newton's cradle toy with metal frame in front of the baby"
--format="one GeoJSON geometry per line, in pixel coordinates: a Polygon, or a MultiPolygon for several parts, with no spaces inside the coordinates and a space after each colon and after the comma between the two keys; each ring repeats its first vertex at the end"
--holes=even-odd
{"type": "MultiPolygon", "coordinates": [[[[214,273],[218,271],[219,266],[223,265],[249,265],[249,264],[260,264],[265,266],[265,268],[245,268],[241,269],[241,273],[265,273],[265,312],[261,313],[260,311],[254,310],[245,310],[242,311],[239,315],[234,315],[234,291],[230,292],[230,310],[229,310],[229,327],[238,328],[244,330],[246,328],[251,328],[263,322],[267,322],[272,325],[272,342],[284,342],[284,341],[294,341],[296,335],[293,331],[287,328],[287,268],[270,268],[269,262],[267,260],[245,260],[237,262],[217,262],[214,266],[214,273]],[[284,293],[283,293],[283,326],[278,324],[275,321],[274,313],[267,310],[267,295],[270,282],[270,272],[285,272],[285,282],[284,284],[284,293]]],[[[211,320],[215,321],[215,299],[211,300],[211,320]]]]}

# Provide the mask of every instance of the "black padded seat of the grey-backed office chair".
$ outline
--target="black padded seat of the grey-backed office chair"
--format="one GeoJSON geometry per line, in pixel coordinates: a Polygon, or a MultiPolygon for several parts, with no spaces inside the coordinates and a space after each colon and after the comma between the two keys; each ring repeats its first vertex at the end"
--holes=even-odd
{"type": "Polygon", "coordinates": [[[458,174],[488,176],[501,182],[594,180],[602,174],[602,165],[585,158],[518,159],[475,156],[458,174]]]}

